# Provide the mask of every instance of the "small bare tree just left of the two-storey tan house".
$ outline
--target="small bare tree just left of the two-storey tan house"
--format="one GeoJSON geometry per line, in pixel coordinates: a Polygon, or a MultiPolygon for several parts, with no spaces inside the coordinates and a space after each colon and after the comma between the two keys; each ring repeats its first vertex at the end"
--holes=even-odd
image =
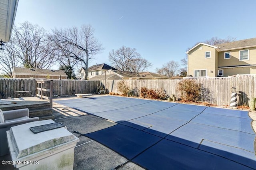
{"type": "Polygon", "coordinates": [[[160,75],[165,75],[167,77],[173,77],[179,70],[180,64],[177,61],[169,61],[163,64],[161,68],[156,68],[156,72],[160,75]]]}

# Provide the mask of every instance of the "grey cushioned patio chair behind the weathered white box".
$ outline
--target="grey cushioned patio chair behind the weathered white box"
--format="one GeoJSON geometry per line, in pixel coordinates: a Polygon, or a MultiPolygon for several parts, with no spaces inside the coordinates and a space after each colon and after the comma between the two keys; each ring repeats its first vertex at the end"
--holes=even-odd
{"type": "Polygon", "coordinates": [[[29,118],[28,109],[2,111],[0,109],[0,156],[9,154],[6,131],[11,127],[38,121],[38,117],[29,118]]]}

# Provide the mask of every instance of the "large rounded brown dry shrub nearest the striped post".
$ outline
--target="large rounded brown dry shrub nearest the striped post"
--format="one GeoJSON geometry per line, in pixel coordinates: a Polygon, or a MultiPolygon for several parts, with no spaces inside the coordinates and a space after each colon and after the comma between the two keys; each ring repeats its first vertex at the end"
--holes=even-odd
{"type": "Polygon", "coordinates": [[[196,102],[200,99],[202,84],[193,79],[184,79],[178,83],[177,90],[180,91],[182,100],[196,102]]]}

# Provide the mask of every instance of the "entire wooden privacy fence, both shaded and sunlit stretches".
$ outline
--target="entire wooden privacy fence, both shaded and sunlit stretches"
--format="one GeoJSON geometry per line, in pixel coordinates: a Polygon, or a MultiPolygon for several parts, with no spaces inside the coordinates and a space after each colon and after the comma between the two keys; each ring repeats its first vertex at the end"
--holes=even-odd
{"type": "MultiPolygon", "coordinates": [[[[248,105],[252,97],[256,97],[256,75],[239,75],[237,77],[186,77],[185,79],[195,79],[202,83],[202,101],[207,101],[216,105],[229,105],[231,98],[231,88],[236,87],[238,91],[238,104],[248,105]]],[[[47,79],[11,79],[0,78],[0,97],[1,99],[18,97],[14,91],[33,91],[36,95],[36,80],[47,79]]],[[[117,89],[118,81],[102,81],[102,85],[108,92],[120,93],[117,89]]],[[[128,86],[140,93],[141,87],[150,89],[164,89],[168,95],[174,94],[176,99],[180,98],[180,93],[176,90],[178,83],[182,79],[156,79],[156,80],[124,80],[128,86]]],[[[100,81],[92,80],[59,80],[53,79],[53,96],[69,96],[75,93],[95,93],[97,84],[100,81]]]]}

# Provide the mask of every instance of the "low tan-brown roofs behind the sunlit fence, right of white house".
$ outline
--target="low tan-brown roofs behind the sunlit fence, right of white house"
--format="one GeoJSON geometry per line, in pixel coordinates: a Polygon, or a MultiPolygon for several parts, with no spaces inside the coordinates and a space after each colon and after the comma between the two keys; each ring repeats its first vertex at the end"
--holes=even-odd
{"type": "MultiPolygon", "coordinates": [[[[151,72],[133,73],[129,71],[108,70],[106,71],[106,80],[129,80],[129,79],[169,79],[164,75],[151,72]]],[[[90,80],[105,80],[105,73],[92,77],[90,80]]]]}

